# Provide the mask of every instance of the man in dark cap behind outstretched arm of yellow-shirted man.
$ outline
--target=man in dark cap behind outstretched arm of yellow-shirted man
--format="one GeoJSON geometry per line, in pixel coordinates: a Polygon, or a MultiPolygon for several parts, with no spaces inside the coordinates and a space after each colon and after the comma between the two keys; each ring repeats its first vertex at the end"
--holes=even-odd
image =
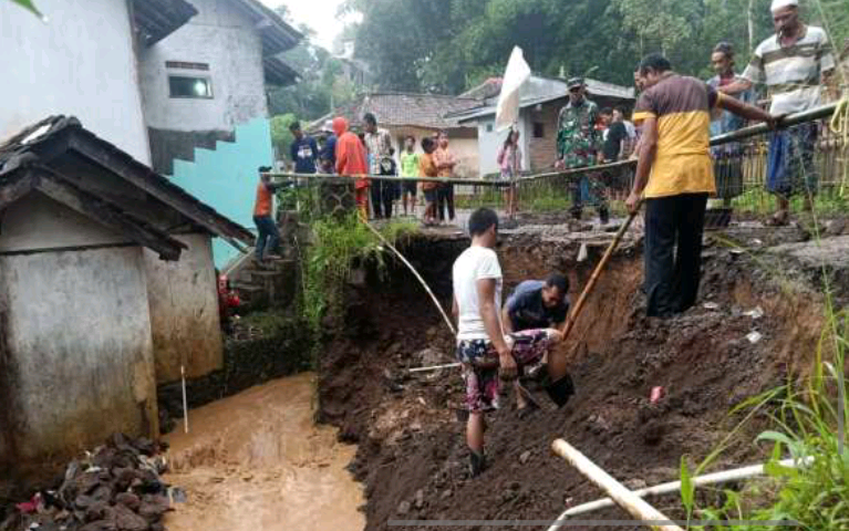
{"type": "MultiPolygon", "coordinates": [[[[721,42],[714,46],[711,55],[711,64],[716,75],[707,81],[714,90],[721,91],[741,80],[734,72],[734,48],[727,42],[721,42]]],[[[736,95],[743,103],[754,103],[754,92],[743,91],[736,95]]],[[[746,125],[746,121],[728,111],[713,114],[711,122],[711,136],[737,131],[746,125]]],[[[714,157],[714,173],[716,175],[716,196],[724,205],[731,206],[731,200],[743,192],[743,150],[738,142],[731,142],[711,148],[714,157]]]]}

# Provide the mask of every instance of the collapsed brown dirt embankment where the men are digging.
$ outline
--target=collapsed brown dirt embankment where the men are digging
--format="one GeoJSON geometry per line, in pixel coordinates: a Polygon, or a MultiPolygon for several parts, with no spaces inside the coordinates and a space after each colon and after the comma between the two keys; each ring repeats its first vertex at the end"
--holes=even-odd
{"type": "MultiPolygon", "coordinates": [[[[447,300],[451,263],[465,242],[439,246],[413,243],[407,252],[447,300]]],[[[570,271],[576,291],[600,252],[591,251],[590,263],[578,266],[576,244],[525,236],[499,253],[507,287],[559,269],[570,271]]],[[[360,444],[352,469],[366,485],[369,530],[387,529],[393,519],[555,519],[569,504],[598,498],[550,454],[558,437],[633,488],[676,479],[682,455],[697,461],[739,423],[742,415],[729,416],[735,405],[805,372],[822,323],[816,289],[718,244],[705,252],[698,306],[669,321],[646,319],[640,256],[625,251],[574,332],[583,343],[573,351],[577,396],[559,410],[540,396],[543,410],[526,419],[511,408],[496,414],[487,434],[490,467],[469,479],[455,415],[463,405],[459,373],[404,376],[407,367],[451,361],[453,340],[413,278],[403,270],[391,278],[352,291],[346,334],[328,346],[320,379],[323,419],[360,444]],[[763,316],[750,312],[758,308],[763,316]],[[656,405],[649,402],[654,386],[666,391],[656,405]]],[[[765,426],[755,416],[728,440],[717,467],[759,461],[763,448],[752,441],[765,426]]],[[[659,503],[675,513],[674,498],[659,503]]],[[[593,516],[627,518],[615,510],[593,516]]]]}

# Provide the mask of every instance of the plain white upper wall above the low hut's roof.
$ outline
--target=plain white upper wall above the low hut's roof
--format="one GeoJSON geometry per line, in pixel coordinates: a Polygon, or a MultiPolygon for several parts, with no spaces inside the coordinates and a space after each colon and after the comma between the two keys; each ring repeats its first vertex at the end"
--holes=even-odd
{"type": "Polygon", "coordinates": [[[39,0],[44,23],[0,2],[0,139],[51,114],[148,163],[130,14],[124,0],[39,0]]]}

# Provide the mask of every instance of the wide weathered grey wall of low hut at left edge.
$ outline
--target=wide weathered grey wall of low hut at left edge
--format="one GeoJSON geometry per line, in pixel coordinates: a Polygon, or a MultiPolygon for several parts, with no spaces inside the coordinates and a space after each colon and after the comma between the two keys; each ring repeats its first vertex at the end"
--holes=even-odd
{"type": "Polygon", "coordinates": [[[113,431],[157,433],[141,248],[0,253],[0,464],[65,455],[113,431]]]}

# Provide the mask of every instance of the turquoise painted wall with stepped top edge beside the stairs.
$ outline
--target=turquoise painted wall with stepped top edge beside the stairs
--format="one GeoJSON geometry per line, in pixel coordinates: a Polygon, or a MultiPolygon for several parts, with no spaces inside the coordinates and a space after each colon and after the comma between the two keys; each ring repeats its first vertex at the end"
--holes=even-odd
{"type": "MultiPolygon", "coordinates": [[[[174,162],[172,180],[234,221],[253,229],[257,168],[271,166],[271,127],[256,118],[236,127],[236,142],[218,142],[215,149],[196,149],[195,160],[174,162]]],[[[224,267],[238,254],[227,242],[213,242],[215,264],[224,267]]]]}

